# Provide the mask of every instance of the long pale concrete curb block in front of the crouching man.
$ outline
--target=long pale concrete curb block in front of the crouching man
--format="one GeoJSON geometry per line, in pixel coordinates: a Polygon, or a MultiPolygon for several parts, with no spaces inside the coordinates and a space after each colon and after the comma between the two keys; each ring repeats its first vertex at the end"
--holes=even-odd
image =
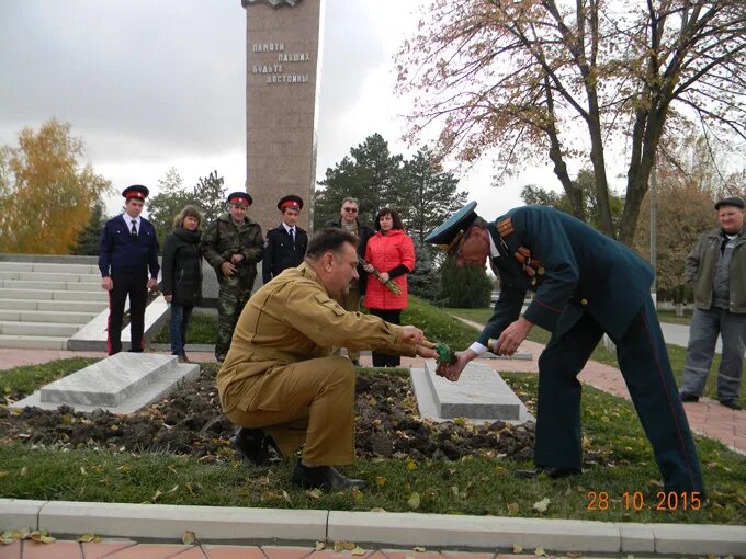
{"type": "Polygon", "coordinates": [[[39,529],[55,536],[97,534],[137,539],[181,539],[191,529],[201,540],[326,538],[327,511],[176,506],[166,504],[52,502],[39,514],[39,529]]]}

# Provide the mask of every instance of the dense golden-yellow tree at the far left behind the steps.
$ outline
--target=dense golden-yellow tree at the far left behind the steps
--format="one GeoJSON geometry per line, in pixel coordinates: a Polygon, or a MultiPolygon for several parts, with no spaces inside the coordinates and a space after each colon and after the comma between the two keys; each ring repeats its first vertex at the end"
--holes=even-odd
{"type": "Polygon", "coordinates": [[[0,252],[67,254],[111,187],[90,164],[82,140],[56,119],[24,128],[0,147],[0,252]]]}

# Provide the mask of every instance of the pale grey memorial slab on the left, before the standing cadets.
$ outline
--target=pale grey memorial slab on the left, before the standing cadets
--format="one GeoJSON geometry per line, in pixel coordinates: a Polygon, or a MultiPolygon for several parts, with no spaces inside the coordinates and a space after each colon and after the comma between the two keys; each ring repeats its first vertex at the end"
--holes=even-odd
{"type": "Polygon", "coordinates": [[[82,412],[132,413],[199,374],[199,365],[180,364],[176,355],[123,352],[55,380],[10,408],[69,406],[82,412]]]}

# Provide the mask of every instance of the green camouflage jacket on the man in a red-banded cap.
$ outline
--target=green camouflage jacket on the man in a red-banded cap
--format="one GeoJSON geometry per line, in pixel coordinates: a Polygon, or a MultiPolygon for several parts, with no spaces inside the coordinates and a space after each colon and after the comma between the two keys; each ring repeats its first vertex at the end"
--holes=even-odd
{"type": "Polygon", "coordinates": [[[202,232],[202,255],[222,277],[221,264],[230,260],[234,254],[244,254],[238,263],[238,275],[253,281],[257,262],[264,252],[264,238],[260,225],[249,217],[244,218],[241,226],[236,226],[230,214],[223,214],[212,221],[202,232]]]}

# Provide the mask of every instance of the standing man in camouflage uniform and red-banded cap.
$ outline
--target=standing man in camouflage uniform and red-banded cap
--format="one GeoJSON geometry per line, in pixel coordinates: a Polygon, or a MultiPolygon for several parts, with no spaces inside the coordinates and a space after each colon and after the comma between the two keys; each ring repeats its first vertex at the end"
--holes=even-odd
{"type": "Polygon", "coordinates": [[[202,233],[202,254],[215,269],[221,284],[215,341],[218,363],[223,363],[228,353],[236,321],[251,296],[257,262],[264,251],[261,227],[246,215],[252,202],[246,192],[234,192],[228,196],[228,212],[202,233]]]}

